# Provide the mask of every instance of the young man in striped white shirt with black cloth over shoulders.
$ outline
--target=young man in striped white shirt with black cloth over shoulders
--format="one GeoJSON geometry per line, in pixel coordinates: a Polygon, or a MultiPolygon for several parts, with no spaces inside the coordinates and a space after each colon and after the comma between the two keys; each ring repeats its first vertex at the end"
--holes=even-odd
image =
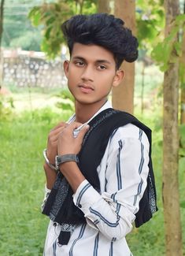
{"type": "Polygon", "coordinates": [[[139,226],[157,210],[150,129],[107,97],[124,78],[121,62],[136,60],[137,39],[105,13],[72,17],[62,31],[75,114],[50,132],[44,150],[44,254],[130,256],[125,236],[133,221],[139,226]]]}

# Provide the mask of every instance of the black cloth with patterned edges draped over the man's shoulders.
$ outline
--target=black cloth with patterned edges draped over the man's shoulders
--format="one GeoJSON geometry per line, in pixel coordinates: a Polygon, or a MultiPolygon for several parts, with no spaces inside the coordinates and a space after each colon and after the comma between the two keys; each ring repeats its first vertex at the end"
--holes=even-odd
{"type": "MultiPolygon", "coordinates": [[[[151,159],[151,130],[142,124],[138,119],[129,113],[115,109],[105,109],[89,123],[90,129],[83,139],[83,146],[80,150],[79,168],[88,182],[100,191],[97,167],[102,161],[105,148],[113,131],[126,124],[135,124],[147,135],[150,143],[149,175],[144,195],[139,202],[139,212],[136,213],[135,226],[139,227],[149,221],[152,214],[157,211],[156,189],[154,172],[151,159]]],[[[72,200],[72,189],[65,177],[58,173],[57,180],[50,192],[49,198],[43,209],[43,213],[59,224],[81,224],[85,223],[83,212],[74,205],[72,200]]]]}

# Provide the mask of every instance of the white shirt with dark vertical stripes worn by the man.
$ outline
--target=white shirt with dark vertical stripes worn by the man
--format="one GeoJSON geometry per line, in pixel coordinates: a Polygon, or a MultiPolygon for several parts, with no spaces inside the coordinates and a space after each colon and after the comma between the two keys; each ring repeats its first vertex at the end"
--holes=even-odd
{"type": "MultiPolygon", "coordinates": [[[[106,102],[101,111],[109,107],[106,102]]],[[[131,232],[146,188],[149,147],[146,134],[133,124],[113,132],[97,169],[101,192],[83,180],[73,195],[87,223],[77,226],[68,244],[61,246],[57,243],[61,225],[50,221],[44,255],[132,255],[125,236],[131,232]]]]}

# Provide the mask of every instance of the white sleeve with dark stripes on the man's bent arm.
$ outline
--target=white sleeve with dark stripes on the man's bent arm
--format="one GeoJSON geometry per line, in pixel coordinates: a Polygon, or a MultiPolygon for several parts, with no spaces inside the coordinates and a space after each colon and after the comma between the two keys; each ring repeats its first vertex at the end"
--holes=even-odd
{"type": "Polygon", "coordinates": [[[134,125],[128,129],[127,133],[127,127],[119,128],[109,139],[98,167],[103,169],[99,172],[102,192],[98,193],[84,180],[73,195],[73,201],[83,211],[87,224],[110,240],[121,239],[131,232],[149,171],[150,146],[146,134],[134,125]]]}

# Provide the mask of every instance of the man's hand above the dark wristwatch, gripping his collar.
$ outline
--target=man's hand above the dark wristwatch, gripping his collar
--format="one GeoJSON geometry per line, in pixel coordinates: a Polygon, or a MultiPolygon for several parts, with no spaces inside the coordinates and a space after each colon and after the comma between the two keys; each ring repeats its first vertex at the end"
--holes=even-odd
{"type": "Polygon", "coordinates": [[[79,132],[76,138],[73,136],[73,130],[80,127],[80,123],[73,122],[68,127],[64,128],[57,140],[57,153],[58,155],[64,154],[79,154],[83,137],[89,129],[89,125],[85,125],[79,132]]]}

